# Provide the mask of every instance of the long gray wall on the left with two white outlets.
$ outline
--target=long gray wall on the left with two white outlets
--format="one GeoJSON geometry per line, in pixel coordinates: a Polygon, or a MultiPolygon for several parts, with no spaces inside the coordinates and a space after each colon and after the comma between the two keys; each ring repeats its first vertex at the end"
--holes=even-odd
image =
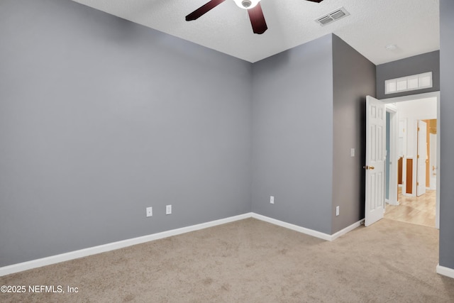
{"type": "Polygon", "coordinates": [[[250,211],[249,62],[70,0],[0,37],[0,266],[250,211]]]}

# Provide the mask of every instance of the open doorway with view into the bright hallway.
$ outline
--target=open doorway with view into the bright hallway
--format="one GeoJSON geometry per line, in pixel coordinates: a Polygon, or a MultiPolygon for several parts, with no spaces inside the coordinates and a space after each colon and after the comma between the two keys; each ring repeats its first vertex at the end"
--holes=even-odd
{"type": "Polygon", "coordinates": [[[382,101],[389,129],[384,217],[439,228],[439,93],[382,101]]]}

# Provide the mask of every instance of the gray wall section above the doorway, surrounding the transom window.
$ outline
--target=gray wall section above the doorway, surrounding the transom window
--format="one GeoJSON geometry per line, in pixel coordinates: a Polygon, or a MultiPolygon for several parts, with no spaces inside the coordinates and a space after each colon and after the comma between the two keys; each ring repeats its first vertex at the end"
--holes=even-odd
{"type": "Polygon", "coordinates": [[[438,92],[440,90],[440,51],[425,53],[408,57],[402,60],[377,65],[377,99],[409,96],[411,94],[423,94],[426,92],[438,92]],[[399,77],[432,72],[433,87],[418,89],[411,92],[399,92],[397,94],[384,94],[384,81],[399,77]]]}

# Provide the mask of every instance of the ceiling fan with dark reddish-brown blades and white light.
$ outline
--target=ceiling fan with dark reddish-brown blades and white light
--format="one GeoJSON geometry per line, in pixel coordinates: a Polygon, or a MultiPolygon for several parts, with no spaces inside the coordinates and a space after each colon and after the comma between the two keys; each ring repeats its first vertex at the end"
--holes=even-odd
{"type": "MultiPolygon", "coordinates": [[[[199,7],[192,13],[186,16],[186,21],[196,20],[200,16],[204,15],[205,13],[211,11],[216,6],[221,4],[223,1],[226,0],[211,0],[208,3],[199,7]]],[[[260,6],[260,0],[233,0],[235,1],[236,5],[238,5],[241,9],[247,9],[250,24],[253,26],[253,32],[262,34],[268,29],[267,23],[265,22],[265,17],[263,16],[262,7],[260,6]]],[[[306,0],[320,3],[323,0],[306,0]]]]}

